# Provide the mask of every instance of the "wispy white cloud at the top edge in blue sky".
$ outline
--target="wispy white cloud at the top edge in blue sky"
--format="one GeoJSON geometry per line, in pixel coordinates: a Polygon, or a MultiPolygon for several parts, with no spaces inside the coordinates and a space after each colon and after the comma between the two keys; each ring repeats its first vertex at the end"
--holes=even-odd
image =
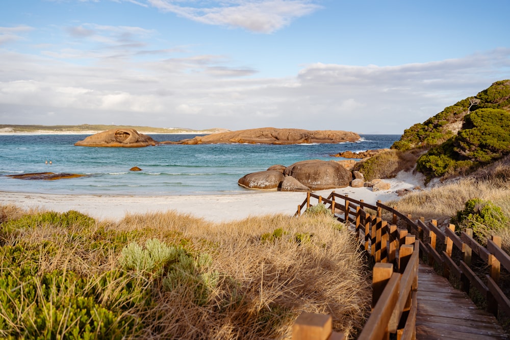
{"type": "Polygon", "coordinates": [[[211,7],[185,7],[179,1],[171,0],[147,2],[161,11],[172,12],[193,21],[266,34],[280,30],[292,20],[322,8],[307,0],[206,2],[211,3],[211,7]]]}

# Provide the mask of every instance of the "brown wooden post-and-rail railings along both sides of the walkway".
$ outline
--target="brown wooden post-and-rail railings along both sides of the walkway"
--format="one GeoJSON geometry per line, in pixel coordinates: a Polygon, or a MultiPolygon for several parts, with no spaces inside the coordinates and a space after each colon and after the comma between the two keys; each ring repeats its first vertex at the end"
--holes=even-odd
{"type": "MultiPolygon", "coordinates": [[[[510,272],[510,256],[501,249],[499,237],[491,237],[487,247],[483,247],[473,239],[471,229],[462,231],[459,236],[452,224],[443,231],[435,220],[425,222],[421,218],[413,221],[411,215],[404,215],[380,201],[371,205],[335,192],[327,198],[308,193],[298,205],[295,216],[301,215],[305,206],[312,205],[311,199],[329,205],[339,221],[350,222],[361,249],[375,261],[372,313],[359,339],[387,339],[389,333],[396,333],[398,339],[415,338],[420,252],[444,277],[461,282],[464,291],[469,293],[471,287],[475,287],[487,302],[487,310],[496,317],[499,310],[510,317],[510,301],[499,286],[501,266],[510,272]],[[382,211],[389,213],[385,216],[391,216],[391,224],[382,219],[382,211]],[[488,267],[490,275],[477,275],[480,270],[473,269],[473,265],[488,267]]],[[[307,320],[312,316],[309,315],[307,320]]],[[[330,328],[322,333],[328,334],[326,337],[317,336],[318,333],[310,337],[309,333],[300,332],[303,329],[300,322],[298,318],[294,324],[293,339],[342,338],[334,337],[339,335],[331,333],[330,328]]],[[[319,324],[313,323],[307,327],[320,329],[319,324]]]]}

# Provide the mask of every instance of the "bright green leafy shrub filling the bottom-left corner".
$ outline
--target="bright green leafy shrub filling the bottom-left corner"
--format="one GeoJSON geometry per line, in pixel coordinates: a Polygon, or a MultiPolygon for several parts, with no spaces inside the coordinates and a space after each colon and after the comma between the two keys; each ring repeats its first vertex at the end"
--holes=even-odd
{"type": "Polygon", "coordinates": [[[120,340],[137,334],[143,324],[130,309],[150,295],[136,278],[119,271],[90,277],[68,268],[44,271],[47,250],[23,242],[0,247],[0,336],[120,340]]]}

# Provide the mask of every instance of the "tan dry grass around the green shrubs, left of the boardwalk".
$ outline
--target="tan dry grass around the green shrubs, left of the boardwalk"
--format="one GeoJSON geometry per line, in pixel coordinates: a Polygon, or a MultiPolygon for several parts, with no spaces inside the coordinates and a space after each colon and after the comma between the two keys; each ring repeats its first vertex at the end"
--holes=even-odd
{"type": "MultiPolygon", "coordinates": [[[[17,255],[17,265],[35,266],[36,276],[50,273],[64,280],[69,277],[71,285],[73,275],[82,277],[84,293],[78,294],[86,296],[96,290],[99,294],[94,295],[97,301],[93,308],[110,308],[117,313],[112,319],[111,329],[116,331],[109,333],[111,338],[286,339],[301,311],[329,313],[337,330],[352,335],[363,326],[369,312],[368,268],[350,233],[327,217],[273,215],[213,224],[169,212],[127,215],[120,222],[97,222],[87,227],[52,223],[7,227],[8,220],[18,219],[23,212],[12,206],[0,207],[0,212],[7,216],[0,225],[0,244],[4,245],[0,250],[23,245],[25,255],[17,255]],[[264,239],[264,234],[276,236],[264,239]],[[164,272],[119,269],[121,250],[132,242],[143,245],[149,239],[181,247],[190,258],[197,259],[192,261],[196,268],[181,273],[179,284],[171,290],[165,289],[164,272]],[[199,267],[198,258],[206,254],[211,263],[199,267]],[[214,274],[217,280],[206,285],[190,273],[196,277],[214,274]],[[197,289],[203,287],[206,298],[197,302],[197,289]],[[132,320],[131,326],[136,327],[128,327],[122,320],[132,320]]],[[[5,263],[13,260],[2,257],[6,254],[0,253],[0,263],[4,263],[0,275],[15,271],[6,271],[5,263]]],[[[163,270],[169,270],[166,266],[163,270]]],[[[8,330],[0,331],[0,335],[30,331],[27,316],[33,322],[44,318],[37,315],[35,305],[55,311],[63,308],[55,301],[72,301],[70,294],[79,292],[75,286],[64,291],[58,284],[53,290],[54,298],[47,300],[42,284],[36,286],[36,303],[22,304],[13,318],[7,317],[7,309],[0,308],[0,319],[10,320],[8,330]]],[[[21,296],[21,300],[30,301],[27,298],[21,296]]],[[[90,318],[93,321],[94,316],[90,318]]],[[[70,332],[72,327],[76,324],[67,328],[60,325],[55,334],[70,332]]],[[[92,338],[107,338],[104,334],[98,332],[92,338]]]]}

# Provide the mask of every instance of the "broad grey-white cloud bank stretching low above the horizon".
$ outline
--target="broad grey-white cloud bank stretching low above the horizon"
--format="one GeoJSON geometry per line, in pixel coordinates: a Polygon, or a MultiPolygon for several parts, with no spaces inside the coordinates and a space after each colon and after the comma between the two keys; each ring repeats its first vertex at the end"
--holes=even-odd
{"type": "Polygon", "coordinates": [[[47,51],[48,57],[0,50],[0,119],[398,134],[510,77],[509,48],[397,66],[314,63],[286,77],[257,76],[225,56],[135,57],[140,51],[120,58],[111,50],[68,48],[47,51]],[[77,63],[80,56],[91,62],[77,63]]]}

